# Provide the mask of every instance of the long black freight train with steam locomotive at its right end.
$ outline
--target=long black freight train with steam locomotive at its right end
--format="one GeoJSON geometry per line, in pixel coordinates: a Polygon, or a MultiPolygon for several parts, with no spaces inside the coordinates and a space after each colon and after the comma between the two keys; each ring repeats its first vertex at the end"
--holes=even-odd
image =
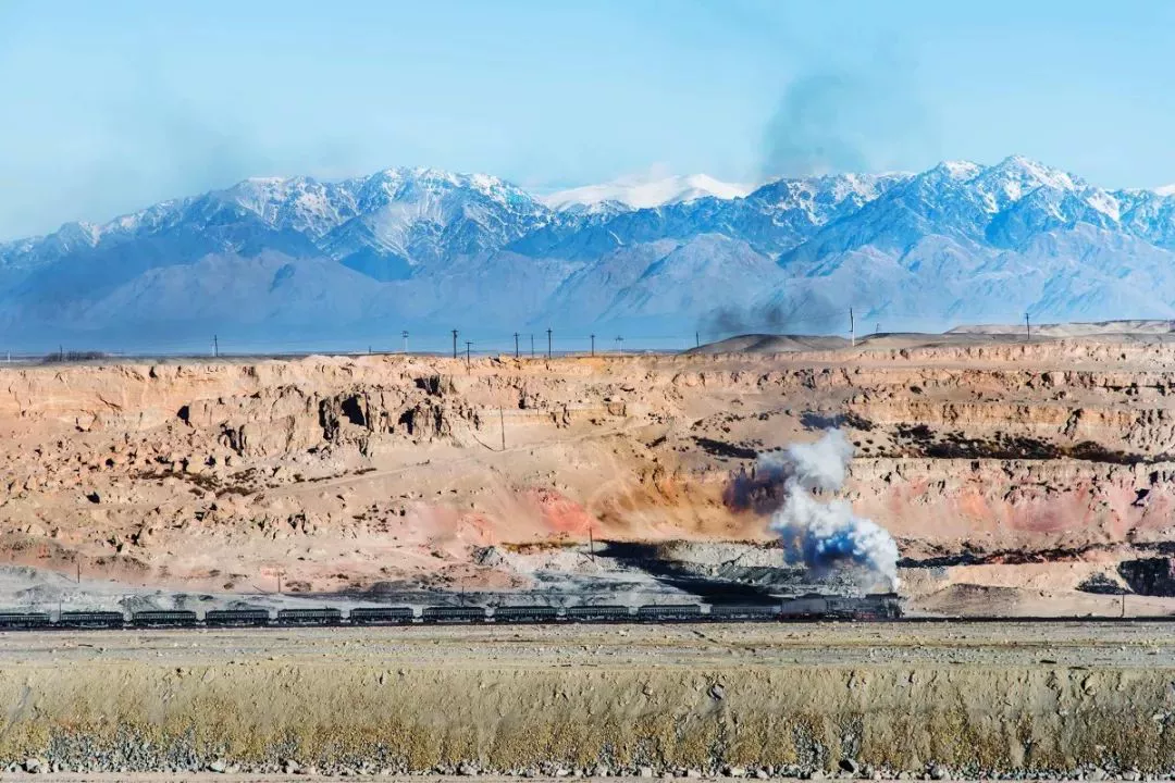
{"type": "Polygon", "coordinates": [[[551,606],[430,606],[417,614],[411,607],[362,607],[343,613],[335,608],[209,609],[203,617],[187,609],[121,612],[0,610],[0,630],[45,629],[161,629],[260,628],[409,625],[518,625],[518,623],[666,623],[666,622],[784,622],[819,620],[894,620],[901,601],[893,594],[840,596],[808,594],[771,605],[660,603],[551,606]]]}

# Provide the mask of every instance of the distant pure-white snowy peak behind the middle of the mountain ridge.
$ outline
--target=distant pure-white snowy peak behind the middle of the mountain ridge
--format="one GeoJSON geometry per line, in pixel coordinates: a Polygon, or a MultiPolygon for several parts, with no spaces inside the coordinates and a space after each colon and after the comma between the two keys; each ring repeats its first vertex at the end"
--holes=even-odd
{"type": "Polygon", "coordinates": [[[551,209],[591,208],[599,204],[624,204],[631,209],[649,209],[679,204],[698,198],[737,198],[753,190],[752,185],[721,182],[706,174],[670,177],[622,177],[603,184],[583,185],[540,196],[551,209]]]}

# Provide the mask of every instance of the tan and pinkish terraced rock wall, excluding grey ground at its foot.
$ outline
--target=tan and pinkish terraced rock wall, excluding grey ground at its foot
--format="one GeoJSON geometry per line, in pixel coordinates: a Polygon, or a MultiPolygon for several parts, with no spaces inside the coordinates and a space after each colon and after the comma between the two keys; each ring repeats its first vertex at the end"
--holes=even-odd
{"type": "Polygon", "coordinates": [[[298,555],[316,568],[358,548],[348,574],[428,569],[472,541],[591,527],[569,533],[569,514],[600,536],[754,539],[732,473],[840,426],[848,497],[907,556],[1153,545],[1175,536],[1164,366],[1175,345],[1072,340],[5,367],[0,522],[83,558],[119,536],[172,574],[184,546],[209,553],[189,573],[219,569],[214,552],[247,573],[288,559],[289,536],[329,542],[298,555]]]}

